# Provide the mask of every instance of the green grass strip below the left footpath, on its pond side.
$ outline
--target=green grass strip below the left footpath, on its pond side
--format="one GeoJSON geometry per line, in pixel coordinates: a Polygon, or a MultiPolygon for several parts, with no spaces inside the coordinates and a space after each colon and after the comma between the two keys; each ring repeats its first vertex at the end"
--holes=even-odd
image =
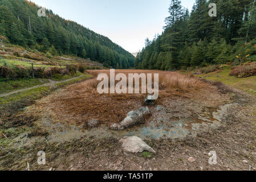
{"type": "Polygon", "coordinates": [[[49,86],[40,86],[35,89],[26,90],[21,93],[12,94],[6,97],[0,97],[0,105],[9,104],[10,102],[24,100],[24,99],[37,99],[50,92],[49,86]]]}

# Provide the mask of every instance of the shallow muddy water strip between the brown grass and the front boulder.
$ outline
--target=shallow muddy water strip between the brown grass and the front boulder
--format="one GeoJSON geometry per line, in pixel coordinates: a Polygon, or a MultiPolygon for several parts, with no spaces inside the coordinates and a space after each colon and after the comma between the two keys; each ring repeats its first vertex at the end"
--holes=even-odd
{"type": "Polygon", "coordinates": [[[52,134],[50,142],[63,142],[72,139],[79,139],[86,137],[92,138],[107,138],[107,137],[131,137],[137,136],[141,139],[160,139],[160,138],[185,138],[187,136],[196,137],[200,131],[207,131],[216,129],[221,126],[222,115],[226,113],[227,108],[230,106],[225,105],[213,111],[208,117],[198,117],[193,119],[179,119],[172,121],[172,126],[166,126],[156,121],[149,122],[146,126],[136,126],[132,129],[122,131],[111,131],[107,126],[101,126],[91,130],[74,129],[64,131],[62,133],[52,134]]]}

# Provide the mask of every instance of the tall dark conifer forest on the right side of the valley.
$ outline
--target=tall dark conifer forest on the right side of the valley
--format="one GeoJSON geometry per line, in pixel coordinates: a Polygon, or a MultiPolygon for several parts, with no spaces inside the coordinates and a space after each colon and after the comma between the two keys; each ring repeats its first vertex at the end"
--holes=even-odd
{"type": "Polygon", "coordinates": [[[176,70],[256,60],[255,0],[196,0],[192,12],[171,0],[162,35],[146,39],[138,69],[176,70]],[[217,4],[210,17],[209,3],[217,4]]]}

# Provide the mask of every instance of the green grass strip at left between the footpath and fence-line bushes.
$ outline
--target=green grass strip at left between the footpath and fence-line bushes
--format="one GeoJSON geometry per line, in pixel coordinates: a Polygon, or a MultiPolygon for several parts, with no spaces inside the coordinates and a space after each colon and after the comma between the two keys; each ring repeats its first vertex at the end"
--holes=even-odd
{"type": "MultiPolygon", "coordinates": [[[[0,78],[1,80],[1,78],[0,78]]],[[[0,81],[0,94],[9,93],[11,91],[30,88],[36,85],[43,85],[49,82],[47,79],[40,78],[17,78],[15,80],[0,81]]]]}

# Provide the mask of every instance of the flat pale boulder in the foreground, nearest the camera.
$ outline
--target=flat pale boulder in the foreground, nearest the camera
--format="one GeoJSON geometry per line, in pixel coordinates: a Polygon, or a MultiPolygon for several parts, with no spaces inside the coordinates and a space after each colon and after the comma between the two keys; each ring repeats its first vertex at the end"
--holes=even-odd
{"type": "Polygon", "coordinates": [[[141,138],[136,136],[121,138],[120,142],[123,143],[123,149],[128,152],[138,153],[143,151],[149,151],[154,154],[156,153],[153,148],[149,147],[147,143],[143,142],[141,138]]]}

